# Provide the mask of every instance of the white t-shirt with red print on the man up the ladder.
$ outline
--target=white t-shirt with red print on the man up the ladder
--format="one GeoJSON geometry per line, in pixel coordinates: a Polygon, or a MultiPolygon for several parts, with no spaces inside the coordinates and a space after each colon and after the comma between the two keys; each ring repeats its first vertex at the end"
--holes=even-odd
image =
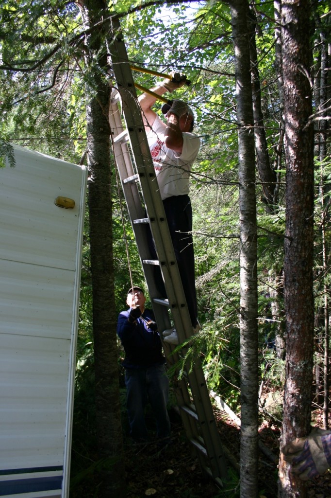
{"type": "Polygon", "coordinates": [[[200,138],[194,133],[183,133],[183,150],[178,152],[165,146],[166,124],[159,116],[147,133],[162,200],[189,192],[189,176],[198,154],[200,138]]]}

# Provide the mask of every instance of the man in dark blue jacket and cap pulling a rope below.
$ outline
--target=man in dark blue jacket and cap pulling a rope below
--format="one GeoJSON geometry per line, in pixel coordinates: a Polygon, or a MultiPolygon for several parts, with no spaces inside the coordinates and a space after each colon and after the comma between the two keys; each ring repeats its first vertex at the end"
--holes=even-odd
{"type": "Polygon", "coordinates": [[[144,416],[148,401],[156,418],[158,437],[170,436],[165,357],[153,311],[145,308],[145,302],[143,289],[129,289],[126,299],[129,309],[119,314],[117,322],[117,335],[125,351],[123,366],[130,436],[140,442],[148,440],[144,416]]]}

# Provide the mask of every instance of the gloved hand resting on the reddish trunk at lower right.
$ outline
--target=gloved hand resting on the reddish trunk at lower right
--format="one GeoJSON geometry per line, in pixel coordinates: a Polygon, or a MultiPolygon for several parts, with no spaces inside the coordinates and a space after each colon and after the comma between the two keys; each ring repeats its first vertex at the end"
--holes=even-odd
{"type": "Polygon", "coordinates": [[[331,431],[314,428],[308,437],[286,444],[282,453],[302,481],[324,474],[331,467],[331,431]]]}

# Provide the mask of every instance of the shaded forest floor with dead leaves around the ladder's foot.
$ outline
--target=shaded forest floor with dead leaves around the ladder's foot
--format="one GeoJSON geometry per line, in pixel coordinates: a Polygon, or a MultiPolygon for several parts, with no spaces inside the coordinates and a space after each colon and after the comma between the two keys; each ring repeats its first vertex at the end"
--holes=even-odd
{"type": "MultiPolygon", "coordinates": [[[[223,445],[229,450],[234,462],[239,463],[240,435],[235,423],[215,413],[218,431],[223,445]]],[[[319,416],[315,417],[316,425],[319,416]]],[[[236,470],[228,467],[228,482],[220,489],[206,478],[197,459],[191,454],[179,416],[170,411],[171,444],[160,450],[156,442],[137,447],[125,443],[127,497],[143,498],[223,498],[239,497],[239,477],[236,470]]],[[[319,424],[320,425],[320,424],[319,424]]],[[[322,425],[320,425],[322,427],[322,425]]],[[[259,428],[260,439],[278,460],[280,430],[265,421],[259,428]]],[[[272,456],[272,455],[271,455],[272,456]]],[[[277,463],[264,453],[259,454],[259,497],[277,498],[277,463]]],[[[331,471],[315,478],[308,484],[309,498],[331,497],[331,471]]]]}

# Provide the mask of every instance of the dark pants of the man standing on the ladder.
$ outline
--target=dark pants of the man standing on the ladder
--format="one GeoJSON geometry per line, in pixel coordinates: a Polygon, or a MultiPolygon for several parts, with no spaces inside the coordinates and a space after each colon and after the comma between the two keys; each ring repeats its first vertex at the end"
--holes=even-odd
{"type": "MultiPolygon", "coordinates": [[[[176,256],[178,269],[183,284],[187,308],[193,327],[197,324],[197,303],[195,291],[194,249],[192,239],[192,206],[188,195],[168,197],[163,201],[165,216],[168,222],[170,237],[176,256]]],[[[157,259],[157,254],[149,233],[149,247],[152,258],[157,259]]],[[[165,297],[165,286],[161,270],[156,267],[156,284],[162,296],[165,297]]]]}

